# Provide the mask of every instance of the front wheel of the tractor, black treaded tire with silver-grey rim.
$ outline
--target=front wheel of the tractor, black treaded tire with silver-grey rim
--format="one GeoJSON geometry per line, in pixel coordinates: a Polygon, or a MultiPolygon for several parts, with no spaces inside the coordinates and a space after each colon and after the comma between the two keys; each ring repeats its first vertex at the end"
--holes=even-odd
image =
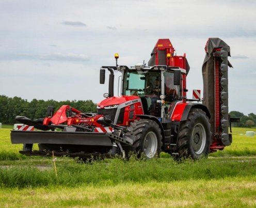
{"type": "Polygon", "coordinates": [[[155,121],[134,120],[128,129],[130,132],[126,133],[125,136],[133,140],[133,146],[131,149],[125,149],[126,156],[129,157],[129,150],[134,152],[137,157],[141,157],[141,154],[145,155],[147,159],[153,158],[155,155],[159,156],[163,137],[155,121]]]}

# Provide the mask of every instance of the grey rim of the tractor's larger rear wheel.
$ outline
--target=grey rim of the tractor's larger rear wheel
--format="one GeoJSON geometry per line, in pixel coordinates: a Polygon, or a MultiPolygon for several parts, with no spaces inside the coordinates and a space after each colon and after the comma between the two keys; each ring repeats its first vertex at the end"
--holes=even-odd
{"type": "Polygon", "coordinates": [[[191,143],[196,154],[201,154],[203,152],[206,143],[206,132],[201,123],[195,125],[192,132],[191,143]]]}

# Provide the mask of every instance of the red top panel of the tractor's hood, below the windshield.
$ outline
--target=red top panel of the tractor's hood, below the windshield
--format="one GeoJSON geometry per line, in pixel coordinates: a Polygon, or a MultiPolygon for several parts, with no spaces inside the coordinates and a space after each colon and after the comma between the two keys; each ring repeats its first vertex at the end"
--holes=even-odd
{"type": "Polygon", "coordinates": [[[107,98],[107,99],[101,101],[100,103],[97,104],[97,106],[100,108],[104,108],[106,106],[119,105],[121,103],[125,103],[127,101],[135,100],[138,98],[139,97],[135,96],[135,95],[123,95],[120,97],[111,97],[111,98],[107,98]]]}

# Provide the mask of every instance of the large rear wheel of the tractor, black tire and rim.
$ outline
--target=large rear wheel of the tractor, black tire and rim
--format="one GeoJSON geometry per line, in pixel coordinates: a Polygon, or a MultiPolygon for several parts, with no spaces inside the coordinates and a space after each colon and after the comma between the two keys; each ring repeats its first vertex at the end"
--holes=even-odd
{"type": "Polygon", "coordinates": [[[175,159],[207,157],[212,143],[211,124],[205,112],[192,108],[181,123],[178,135],[178,155],[175,159]]]}

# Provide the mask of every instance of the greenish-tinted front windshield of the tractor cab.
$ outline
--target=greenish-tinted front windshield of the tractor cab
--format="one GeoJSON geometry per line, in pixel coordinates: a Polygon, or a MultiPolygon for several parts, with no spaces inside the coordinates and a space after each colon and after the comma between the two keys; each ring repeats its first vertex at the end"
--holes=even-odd
{"type": "Polygon", "coordinates": [[[126,71],[124,72],[123,95],[161,94],[160,71],[126,71]]]}

